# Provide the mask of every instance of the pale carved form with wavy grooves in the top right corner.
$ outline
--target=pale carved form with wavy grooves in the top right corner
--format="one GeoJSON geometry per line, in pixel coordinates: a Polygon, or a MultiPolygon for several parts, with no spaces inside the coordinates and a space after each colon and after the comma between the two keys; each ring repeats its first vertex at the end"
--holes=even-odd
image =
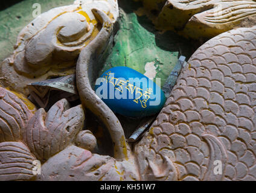
{"type": "MultiPolygon", "coordinates": [[[[254,1],[219,1],[213,8],[194,14],[185,26],[185,33],[193,38],[214,37],[239,27],[252,27],[256,17],[254,1]]],[[[207,5],[201,7],[206,8],[207,5]]]]}

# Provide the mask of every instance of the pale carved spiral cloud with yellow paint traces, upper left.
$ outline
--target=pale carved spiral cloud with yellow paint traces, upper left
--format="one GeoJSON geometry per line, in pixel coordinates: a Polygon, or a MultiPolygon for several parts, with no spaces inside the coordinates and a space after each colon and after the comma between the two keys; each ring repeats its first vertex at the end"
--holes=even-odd
{"type": "Polygon", "coordinates": [[[0,84],[28,95],[29,83],[74,73],[80,51],[101,28],[94,8],[117,21],[116,1],[85,0],[53,8],[30,22],[19,33],[13,54],[1,63],[0,84]]]}

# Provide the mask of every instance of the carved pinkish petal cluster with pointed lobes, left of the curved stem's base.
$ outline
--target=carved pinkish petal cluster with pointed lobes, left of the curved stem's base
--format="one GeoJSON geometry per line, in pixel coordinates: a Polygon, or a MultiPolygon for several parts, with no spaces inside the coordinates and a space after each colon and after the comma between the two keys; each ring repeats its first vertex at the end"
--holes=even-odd
{"type": "Polygon", "coordinates": [[[27,145],[37,159],[49,159],[65,149],[82,130],[85,115],[82,106],[69,109],[69,103],[63,99],[45,112],[39,109],[27,126],[27,145]]]}

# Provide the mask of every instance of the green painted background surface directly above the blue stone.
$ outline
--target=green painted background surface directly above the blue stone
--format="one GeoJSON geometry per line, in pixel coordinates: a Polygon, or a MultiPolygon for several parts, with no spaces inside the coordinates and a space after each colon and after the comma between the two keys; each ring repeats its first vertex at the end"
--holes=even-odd
{"type": "Polygon", "coordinates": [[[133,11],[141,4],[133,1],[118,2],[120,30],[115,36],[115,45],[100,74],[115,66],[127,66],[144,74],[146,63],[153,62],[156,78],[161,78],[159,86],[163,86],[179,55],[185,55],[188,59],[193,53],[193,46],[187,39],[173,32],[160,34],[146,16],[137,16],[133,11]]]}

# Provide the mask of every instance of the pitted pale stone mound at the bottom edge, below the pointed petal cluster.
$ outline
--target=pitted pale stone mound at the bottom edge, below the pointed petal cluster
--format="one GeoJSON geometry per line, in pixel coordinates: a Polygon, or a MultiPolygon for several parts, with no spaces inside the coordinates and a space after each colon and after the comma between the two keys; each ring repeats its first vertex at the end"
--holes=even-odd
{"type": "Polygon", "coordinates": [[[71,145],[42,165],[37,180],[139,180],[139,175],[134,162],[117,162],[71,145]]]}

